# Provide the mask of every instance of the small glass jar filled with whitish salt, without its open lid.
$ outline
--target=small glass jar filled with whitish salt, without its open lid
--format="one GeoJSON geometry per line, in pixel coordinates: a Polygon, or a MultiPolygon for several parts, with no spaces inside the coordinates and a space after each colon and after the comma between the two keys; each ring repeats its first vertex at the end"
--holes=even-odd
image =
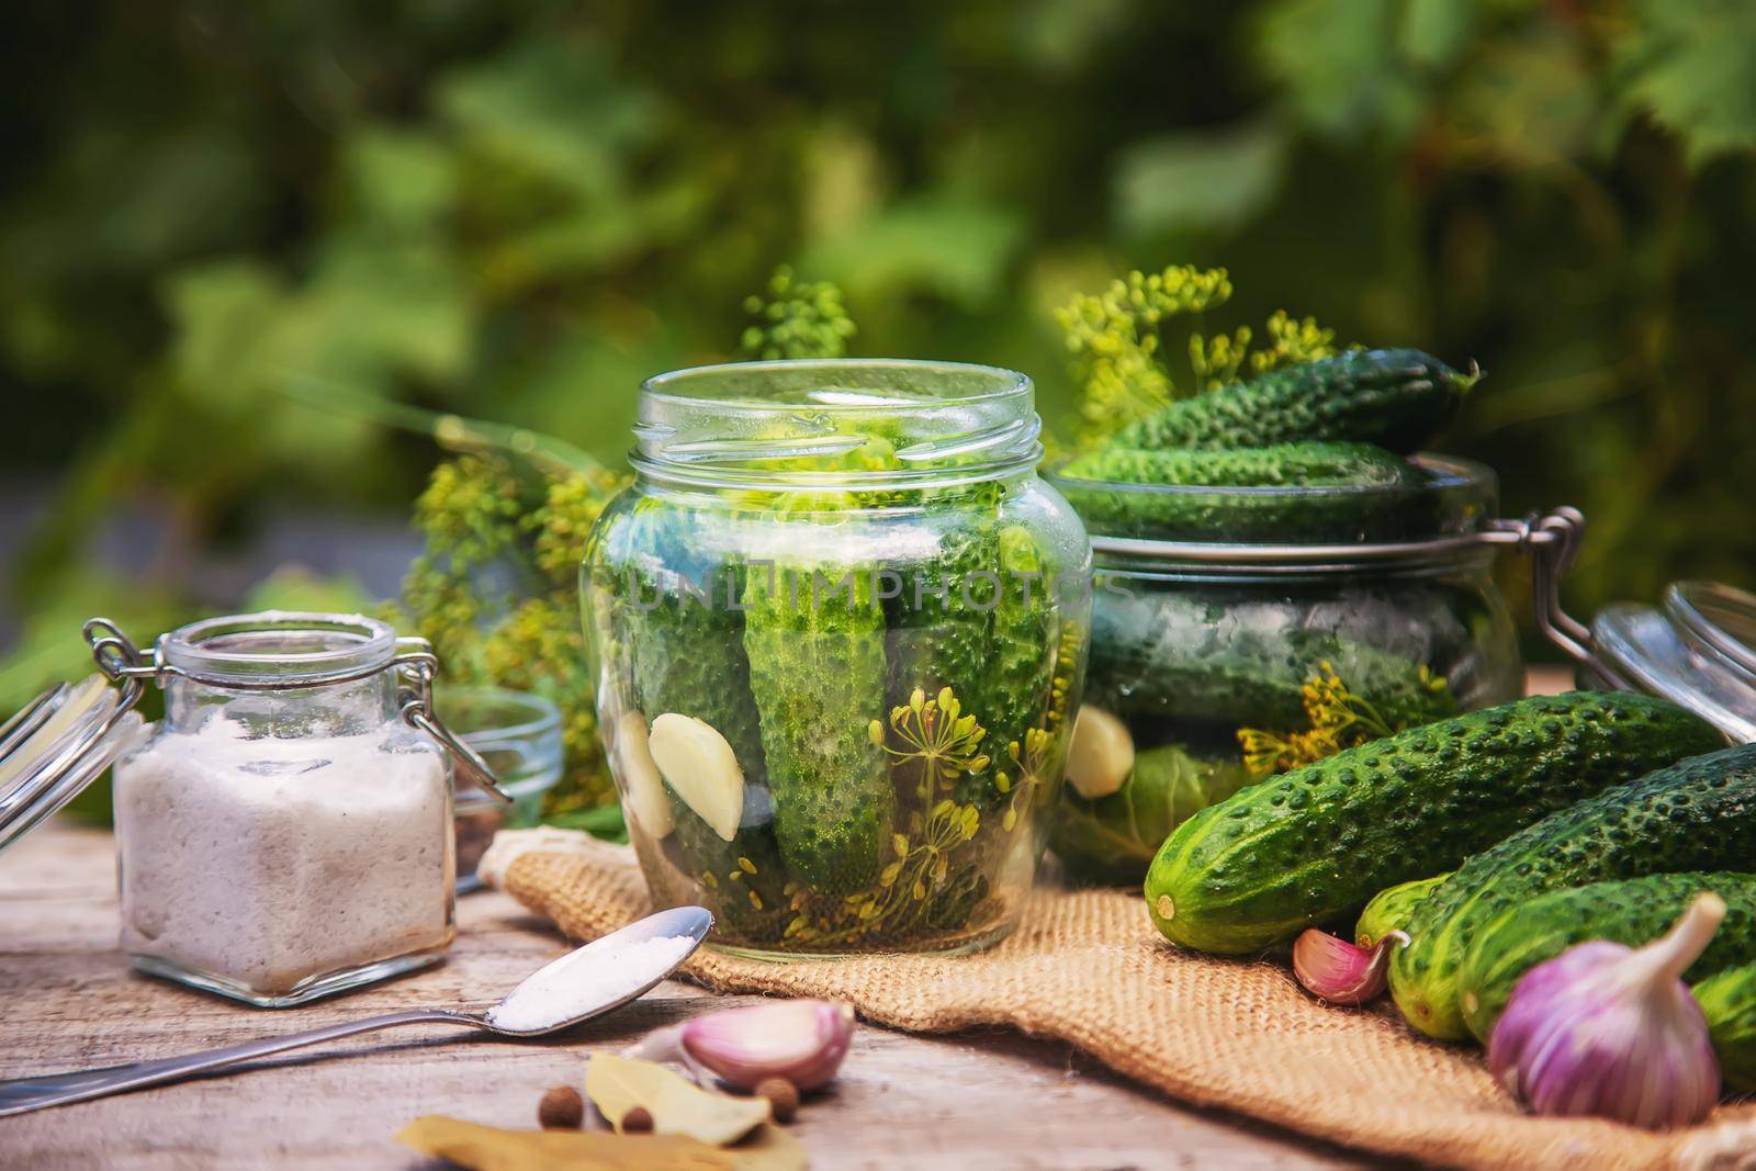
{"type": "Polygon", "coordinates": [[[114,771],[137,969],[283,1008],[443,957],[450,765],[404,690],[425,660],[371,618],[269,613],[197,621],[123,667],[165,688],[114,771]]]}

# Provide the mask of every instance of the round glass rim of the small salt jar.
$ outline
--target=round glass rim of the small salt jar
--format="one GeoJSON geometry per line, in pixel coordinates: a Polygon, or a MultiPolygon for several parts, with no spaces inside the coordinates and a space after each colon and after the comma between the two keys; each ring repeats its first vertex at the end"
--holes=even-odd
{"type": "Polygon", "coordinates": [[[202,618],[165,634],[167,667],[211,683],[304,686],[388,667],[397,653],[390,623],[365,614],[260,611],[202,618]]]}

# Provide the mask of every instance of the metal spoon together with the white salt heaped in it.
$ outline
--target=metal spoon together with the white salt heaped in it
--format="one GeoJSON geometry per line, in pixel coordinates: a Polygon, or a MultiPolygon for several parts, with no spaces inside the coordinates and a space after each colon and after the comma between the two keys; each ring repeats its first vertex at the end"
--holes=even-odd
{"type": "Polygon", "coordinates": [[[227,1066],[283,1053],[306,1045],[334,1041],[356,1032],[393,1029],[397,1025],[450,1024],[469,1025],[483,1032],[511,1038],[534,1038],[601,1017],[651,990],[660,980],[694,952],[708,930],[713,915],[699,906],[676,906],[648,915],[637,923],[602,939],[576,948],[525,978],[516,988],[486,1011],[458,1011],[451,1008],[411,1008],[381,1017],[348,1020],[325,1029],[293,1032],[262,1041],[246,1041],[227,1048],[162,1060],[142,1060],[132,1066],[104,1069],[77,1069],[30,1078],[0,1081],[0,1118],[21,1115],[63,1103],[83,1103],[91,1097],[125,1094],[149,1085],[183,1081],[195,1074],[227,1066]]]}

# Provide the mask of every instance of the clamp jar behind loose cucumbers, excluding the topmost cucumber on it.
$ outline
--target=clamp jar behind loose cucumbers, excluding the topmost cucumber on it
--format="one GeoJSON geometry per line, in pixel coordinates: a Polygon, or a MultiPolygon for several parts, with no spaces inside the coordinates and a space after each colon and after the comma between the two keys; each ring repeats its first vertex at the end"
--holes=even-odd
{"type": "Polygon", "coordinates": [[[1493,520],[1489,469],[1415,465],[1389,488],[1048,476],[1096,558],[1082,720],[1126,744],[1099,795],[1062,802],[1075,876],[1138,881],[1178,820],[1261,776],[1522,693],[1491,569],[1529,525],[1493,520]]]}

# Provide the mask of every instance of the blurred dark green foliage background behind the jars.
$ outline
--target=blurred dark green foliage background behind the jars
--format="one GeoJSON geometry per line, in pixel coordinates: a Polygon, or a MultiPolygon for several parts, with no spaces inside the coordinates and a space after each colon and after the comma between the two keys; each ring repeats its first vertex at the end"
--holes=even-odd
{"type": "Polygon", "coordinates": [[[1052,307],[1226,265],[1212,328],[1285,307],[1480,362],[1447,446],[1500,469],[1508,513],[1589,513],[1575,609],[1756,585],[1747,0],[11,18],[0,481],[46,488],[5,565],[0,700],[77,669],[88,613],[149,636],[235,600],[200,567],[277,509],[407,513],[434,444],[288,384],[615,462],[639,379],[727,356],[778,263],[846,291],[855,353],[1024,369],[1062,430],[1052,307]]]}

